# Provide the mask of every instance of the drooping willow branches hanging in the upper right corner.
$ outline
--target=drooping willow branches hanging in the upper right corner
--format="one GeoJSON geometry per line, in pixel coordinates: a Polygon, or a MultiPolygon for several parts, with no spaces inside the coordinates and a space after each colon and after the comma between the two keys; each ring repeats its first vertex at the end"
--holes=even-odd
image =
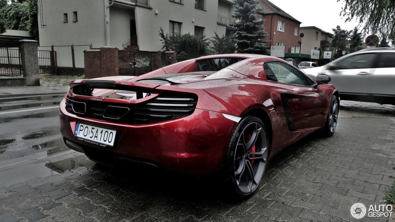
{"type": "MultiPolygon", "coordinates": [[[[337,0],[340,2],[340,0],[337,0]]],[[[365,33],[389,34],[389,39],[395,41],[395,1],[394,0],[342,0],[344,7],[341,15],[346,16],[346,22],[358,19],[365,23],[365,33]]]]}

